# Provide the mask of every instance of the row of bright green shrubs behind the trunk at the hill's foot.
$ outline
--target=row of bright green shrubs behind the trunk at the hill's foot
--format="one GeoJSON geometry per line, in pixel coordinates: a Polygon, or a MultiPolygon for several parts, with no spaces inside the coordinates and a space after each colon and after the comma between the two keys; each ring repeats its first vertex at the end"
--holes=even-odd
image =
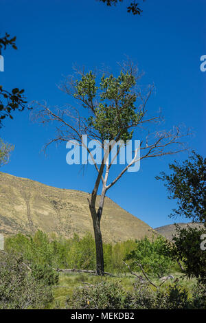
{"type": "MultiPolygon", "coordinates": [[[[104,243],[105,270],[111,272],[125,272],[122,260],[135,247],[135,241],[120,243],[104,243]]],[[[16,234],[5,240],[7,252],[21,255],[24,260],[36,265],[49,265],[58,269],[95,269],[95,241],[88,233],[80,238],[74,234],[73,238],[49,238],[41,231],[34,236],[16,234]]]]}

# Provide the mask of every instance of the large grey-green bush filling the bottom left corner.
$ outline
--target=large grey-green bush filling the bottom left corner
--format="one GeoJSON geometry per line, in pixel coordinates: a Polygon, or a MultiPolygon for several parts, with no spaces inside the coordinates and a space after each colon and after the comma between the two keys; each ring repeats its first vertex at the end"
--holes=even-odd
{"type": "Polygon", "coordinates": [[[0,255],[0,309],[44,309],[52,289],[32,277],[22,258],[0,255]]]}

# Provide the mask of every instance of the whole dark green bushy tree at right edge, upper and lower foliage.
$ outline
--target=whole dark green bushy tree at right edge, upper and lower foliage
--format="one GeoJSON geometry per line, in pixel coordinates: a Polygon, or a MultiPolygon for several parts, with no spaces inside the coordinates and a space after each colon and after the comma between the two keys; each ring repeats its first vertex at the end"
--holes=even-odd
{"type": "MultiPolygon", "coordinates": [[[[156,178],[165,181],[169,199],[177,201],[178,208],[170,216],[185,216],[206,226],[206,158],[192,151],[183,164],[174,161],[169,167],[172,170],[170,175],[161,172],[156,178]]],[[[181,228],[176,225],[173,254],[182,260],[188,277],[195,276],[205,282],[206,252],[201,249],[203,234],[206,234],[204,227],[181,228]]]]}

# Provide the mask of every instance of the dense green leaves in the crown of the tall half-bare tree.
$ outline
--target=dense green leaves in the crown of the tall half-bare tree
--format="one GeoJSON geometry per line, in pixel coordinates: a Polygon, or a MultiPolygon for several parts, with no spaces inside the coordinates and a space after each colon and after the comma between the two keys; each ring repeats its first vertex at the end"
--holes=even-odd
{"type": "Polygon", "coordinates": [[[98,131],[101,140],[132,139],[130,129],[137,126],[144,114],[135,107],[137,94],[132,92],[135,84],[135,76],[128,71],[121,71],[117,78],[103,74],[99,85],[92,71],[76,80],[73,97],[93,112],[85,122],[89,129],[98,131]],[[93,102],[94,98],[100,98],[99,104],[93,102]]]}

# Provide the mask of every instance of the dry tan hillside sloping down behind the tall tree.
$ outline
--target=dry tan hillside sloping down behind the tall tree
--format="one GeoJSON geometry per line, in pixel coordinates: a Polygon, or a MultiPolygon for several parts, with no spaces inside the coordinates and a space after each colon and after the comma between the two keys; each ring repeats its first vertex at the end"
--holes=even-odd
{"type": "MultiPolygon", "coordinates": [[[[65,238],[93,233],[89,193],[47,186],[0,172],[0,233],[32,234],[36,230],[65,238]]],[[[99,197],[98,197],[99,198],[99,197]]],[[[137,217],[106,197],[102,215],[105,242],[157,234],[137,217]]]]}

